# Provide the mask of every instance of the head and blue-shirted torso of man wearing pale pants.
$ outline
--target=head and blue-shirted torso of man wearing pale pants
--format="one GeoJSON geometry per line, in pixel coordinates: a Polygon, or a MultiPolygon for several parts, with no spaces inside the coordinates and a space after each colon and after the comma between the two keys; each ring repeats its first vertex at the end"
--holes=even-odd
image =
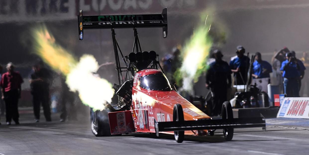
{"type": "Polygon", "coordinates": [[[253,78],[270,77],[269,73],[273,72],[272,66],[267,61],[262,60],[260,52],[255,53],[255,61],[253,62],[252,67],[253,78]]]}

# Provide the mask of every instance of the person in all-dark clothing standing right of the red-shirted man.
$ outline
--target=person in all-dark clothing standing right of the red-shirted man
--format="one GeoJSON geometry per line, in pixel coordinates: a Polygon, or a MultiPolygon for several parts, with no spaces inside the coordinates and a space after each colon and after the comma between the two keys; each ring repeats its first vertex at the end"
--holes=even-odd
{"type": "Polygon", "coordinates": [[[49,69],[44,67],[43,61],[39,61],[33,67],[34,73],[31,74],[30,86],[33,97],[33,113],[35,122],[40,120],[40,104],[42,103],[44,116],[47,122],[51,121],[49,106],[49,84],[52,75],[49,69]]]}

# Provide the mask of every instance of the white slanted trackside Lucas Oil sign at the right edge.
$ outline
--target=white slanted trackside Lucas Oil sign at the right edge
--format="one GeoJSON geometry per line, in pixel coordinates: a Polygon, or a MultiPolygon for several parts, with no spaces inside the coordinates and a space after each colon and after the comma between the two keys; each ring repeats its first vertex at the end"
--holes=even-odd
{"type": "Polygon", "coordinates": [[[309,98],[284,98],[277,117],[309,119],[309,98]]]}

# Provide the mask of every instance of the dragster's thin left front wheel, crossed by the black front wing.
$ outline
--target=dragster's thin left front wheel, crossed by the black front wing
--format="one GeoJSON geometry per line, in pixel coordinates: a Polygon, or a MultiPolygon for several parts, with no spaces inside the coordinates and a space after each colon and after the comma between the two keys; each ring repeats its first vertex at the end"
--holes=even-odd
{"type": "MultiPolygon", "coordinates": [[[[183,122],[184,121],[184,112],[180,104],[176,104],[173,110],[173,121],[174,122],[183,122]]],[[[174,131],[174,137],[177,143],[184,141],[184,131],[174,131]]]]}

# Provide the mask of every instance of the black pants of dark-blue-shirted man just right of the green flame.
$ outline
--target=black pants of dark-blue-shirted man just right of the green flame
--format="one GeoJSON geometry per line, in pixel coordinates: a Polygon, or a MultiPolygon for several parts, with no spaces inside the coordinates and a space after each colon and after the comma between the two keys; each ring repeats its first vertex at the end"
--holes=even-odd
{"type": "Polygon", "coordinates": [[[212,115],[220,115],[222,112],[222,104],[227,100],[227,84],[214,85],[211,87],[211,91],[213,93],[212,115]]]}

